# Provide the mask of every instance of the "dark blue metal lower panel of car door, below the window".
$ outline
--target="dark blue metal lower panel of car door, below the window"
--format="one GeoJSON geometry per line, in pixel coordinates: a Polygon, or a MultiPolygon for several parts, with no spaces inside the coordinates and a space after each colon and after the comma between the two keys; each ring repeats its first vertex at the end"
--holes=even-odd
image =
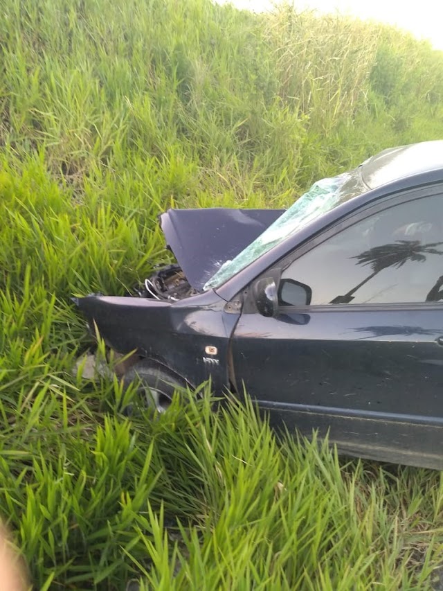
{"type": "Polygon", "coordinates": [[[233,337],[234,373],[273,423],[285,412],[288,427],[308,434],[321,417],[323,434],[329,429],[332,442],[354,452],[368,430],[367,456],[373,445],[400,461],[410,443],[405,423],[426,431],[431,420],[436,454],[443,443],[442,335],[443,306],[243,314],[233,337]]]}

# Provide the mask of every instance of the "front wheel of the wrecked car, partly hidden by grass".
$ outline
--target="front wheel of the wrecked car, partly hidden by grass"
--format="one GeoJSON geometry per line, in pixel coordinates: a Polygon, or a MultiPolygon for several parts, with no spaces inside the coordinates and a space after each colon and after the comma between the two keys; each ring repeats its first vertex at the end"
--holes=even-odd
{"type": "Polygon", "coordinates": [[[168,410],[174,391],[184,386],[172,373],[147,361],[137,362],[127,370],[123,378],[125,388],[134,380],[140,381],[138,393],[143,403],[157,412],[168,410]]]}

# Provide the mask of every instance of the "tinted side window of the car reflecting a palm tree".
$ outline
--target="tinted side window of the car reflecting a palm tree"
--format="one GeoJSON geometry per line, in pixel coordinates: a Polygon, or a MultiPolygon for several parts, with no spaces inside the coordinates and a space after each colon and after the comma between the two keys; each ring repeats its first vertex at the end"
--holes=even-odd
{"type": "MultiPolygon", "coordinates": [[[[293,261],[311,305],[443,300],[443,195],[391,206],[293,261]]],[[[298,296],[298,292],[293,292],[298,296]]],[[[280,305],[296,305],[285,290],[280,305]]]]}

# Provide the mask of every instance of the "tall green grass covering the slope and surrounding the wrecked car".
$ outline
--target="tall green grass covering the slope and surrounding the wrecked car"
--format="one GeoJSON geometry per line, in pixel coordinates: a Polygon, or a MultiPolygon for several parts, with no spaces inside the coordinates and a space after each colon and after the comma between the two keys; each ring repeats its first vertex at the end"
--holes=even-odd
{"type": "MultiPolygon", "coordinates": [[[[440,473],[276,439],[210,391],[152,420],[84,380],[73,294],[168,260],[170,206],[285,206],[443,137],[443,53],[397,30],[210,0],[3,0],[0,515],[35,589],[431,588],[440,473]]],[[[104,347],[99,344],[99,355],[104,347]]]]}

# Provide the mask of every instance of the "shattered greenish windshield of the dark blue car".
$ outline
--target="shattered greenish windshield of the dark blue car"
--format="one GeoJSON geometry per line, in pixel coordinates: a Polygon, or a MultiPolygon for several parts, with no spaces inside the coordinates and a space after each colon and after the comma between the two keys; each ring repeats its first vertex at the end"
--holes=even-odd
{"type": "Polygon", "coordinates": [[[205,283],[203,289],[218,288],[239,271],[251,265],[257,258],[269,252],[275,245],[286,240],[288,236],[365,190],[367,188],[361,181],[359,168],[338,177],[316,182],[232,261],[226,261],[221,265],[217,273],[205,283]]]}

